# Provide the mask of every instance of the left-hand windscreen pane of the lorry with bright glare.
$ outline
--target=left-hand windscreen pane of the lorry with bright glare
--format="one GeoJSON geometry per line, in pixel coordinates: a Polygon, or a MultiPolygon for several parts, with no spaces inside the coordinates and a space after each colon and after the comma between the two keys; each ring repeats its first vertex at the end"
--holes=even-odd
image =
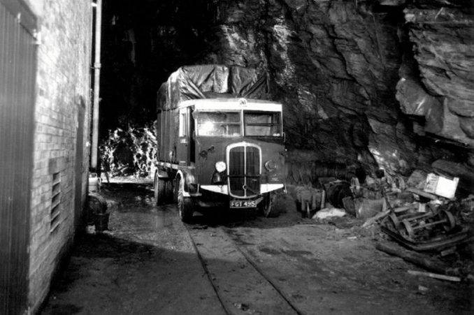
{"type": "Polygon", "coordinates": [[[240,135],[240,112],[199,112],[198,135],[240,135]]]}

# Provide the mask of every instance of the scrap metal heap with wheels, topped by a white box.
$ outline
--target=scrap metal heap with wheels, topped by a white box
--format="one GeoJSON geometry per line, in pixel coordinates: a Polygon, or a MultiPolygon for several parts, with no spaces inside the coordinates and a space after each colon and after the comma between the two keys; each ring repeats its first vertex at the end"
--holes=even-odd
{"type": "Polygon", "coordinates": [[[459,224],[459,210],[452,203],[458,182],[457,177],[415,172],[407,187],[400,177],[378,173],[363,186],[352,185],[354,199],[361,199],[356,214],[367,219],[364,227],[380,221],[384,233],[410,249],[438,249],[449,255],[452,250],[447,249],[470,237],[470,228],[459,224]]]}

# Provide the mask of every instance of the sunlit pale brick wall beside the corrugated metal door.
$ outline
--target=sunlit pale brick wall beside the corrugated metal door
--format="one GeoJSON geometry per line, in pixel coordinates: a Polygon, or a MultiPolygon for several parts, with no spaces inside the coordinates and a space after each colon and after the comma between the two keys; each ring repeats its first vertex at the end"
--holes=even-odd
{"type": "MultiPolygon", "coordinates": [[[[34,170],[31,187],[29,309],[34,314],[73,242],[78,225],[76,145],[89,137],[92,6],[85,0],[29,0],[39,15],[34,170]],[[85,126],[79,126],[79,109],[85,126]],[[84,137],[77,139],[78,129],[84,137]],[[77,143],[78,142],[78,143],[77,143]]],[[[84,149],[82,194],[89,150],[84,149]]]]}

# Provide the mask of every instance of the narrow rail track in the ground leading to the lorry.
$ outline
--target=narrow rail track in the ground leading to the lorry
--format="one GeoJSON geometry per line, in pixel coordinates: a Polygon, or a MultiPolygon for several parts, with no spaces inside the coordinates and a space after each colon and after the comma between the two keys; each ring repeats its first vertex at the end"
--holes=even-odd
{"type": "Polygon", "coordinates": [[[199,261],[227,314],[305,315],[229,234],[229,228],[185,224],[199,261]]]}

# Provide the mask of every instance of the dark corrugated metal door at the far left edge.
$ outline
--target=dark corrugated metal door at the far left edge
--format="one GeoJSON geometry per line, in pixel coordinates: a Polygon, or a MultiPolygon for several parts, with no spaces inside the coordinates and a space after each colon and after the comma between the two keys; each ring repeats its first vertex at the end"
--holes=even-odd
{"type": "Polygon", "coordinates": [[[35,27],[22,1],[0,0],[0,314],[27,311],[35,27]]]}

